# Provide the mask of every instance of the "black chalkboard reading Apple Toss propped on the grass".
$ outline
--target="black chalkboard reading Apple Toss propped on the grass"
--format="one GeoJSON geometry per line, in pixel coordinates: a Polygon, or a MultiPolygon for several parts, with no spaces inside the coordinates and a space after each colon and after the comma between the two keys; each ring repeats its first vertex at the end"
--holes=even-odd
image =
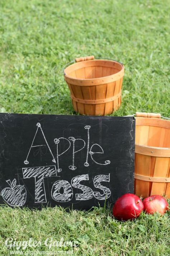
{"type": "Polygon", "coordinates": [[[134,117],[0,113],[0,204],[113,204],[133,193],[134,134],[134,117]]]}

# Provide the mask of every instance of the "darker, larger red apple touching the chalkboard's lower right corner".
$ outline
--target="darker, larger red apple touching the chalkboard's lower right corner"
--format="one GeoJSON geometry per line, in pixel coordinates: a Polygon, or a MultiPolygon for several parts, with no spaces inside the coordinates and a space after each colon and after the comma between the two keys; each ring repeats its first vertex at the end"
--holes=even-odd
{"type": "Polygon", "coordinates": [[[118,220],[132,220],[143,211],[141,199],[134,194],[124,194],[113,206],[113,216],[118,220]]]}

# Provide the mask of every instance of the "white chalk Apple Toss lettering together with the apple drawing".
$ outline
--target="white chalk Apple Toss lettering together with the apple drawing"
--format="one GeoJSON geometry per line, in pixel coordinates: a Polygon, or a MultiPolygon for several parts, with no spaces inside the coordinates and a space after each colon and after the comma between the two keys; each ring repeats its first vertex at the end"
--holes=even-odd
{"type": "MultiPolygon", "coordinates": [[[[46,137],[43,133],[43,130],[41,128],[41,124],[37,123],[37,130],[36,133],[34,135],[32,144],[30,145],[26,160],[24,161],[25,165],[28,165],[29,161],[28,161],[28,157],[29,157],[29,153],[30,150],[32,148],[35,147],[44,147],[47,146],[49,153],[52,156],[52,161],[54,163],[57,163],[57,169],[56,169],[56,165],[49,165],[49,166],[37,166],[37,167],[23,167],[22,171],[23,171],[23,178],[24,179],[30,179],[30,178],[34,178],[34,182],[35,182],[35,203],[46,203],[47,202],[47,198],[46,198],[46,190],[45,190],[45,185],[44,185],[44,179],[48,178],[48,177],[59,177],[57,176],[58,172],[61,172],[62,169],[59,165],[59,160],[60,160],[60,156],[64,153],[66,153],[71,145],[72,145],[72,163],[69,166],[70,170],[76,170],[76,166],[75,166],[75,154],[79,151],[81,151],[82,149],[85,148],[86,146],[86,160],[84,162],[84,166],[89,166],[89,155],[91,157],[91,160],[96,163],[97,165],[108,165],[110,164],[110,160],[106,160],[104,161],[104,163],[99,163],[98,161],[96,161],[95,159],[95,154],[104,154],[103,148],[99,145],[99,144],[92,144],[90,147],[90,133],[89,130],[91,128],[90,125],[86,125],[84,127],[84,129],[87,130],[87,143],[85,142],[85,140],[83,139],[79,139],[79,138],[74,138],[73,136],[70,136],[68,139],[64,138],[64,137],[60,137],[60,138],[55,138],[54,139],[54,143],[56,144],[56,150],[57,150],[57,154],[56,154],[56,158],[54,157],[51,148],[49,147],[46,137]],[[39,143],[39,145],[34,145],[34,140],[37,136],[37,132],[38,130],[41,131],[44,141],[42,143],[39,143]],[[62,152],[59,152],[60,150],[60,146],[62,144],[61,141],[65,141],[67,142],[66,147],[62,150],[62,152]],[[81,142],[81,144],[80,144],[81,142]],[[76,147],[76,149],[75,149],[76,147]],[[95,148],[95,150],[94,150],[95,148]],[[97,149],[96,149],[97,148],[97,149]]],[[[83,174],[83,175],[78,175],[75,176],[74,178],[72,178],[71,180],[71,184],[69,183],[69,181],[66,180],[57,180],[55,181],[55,183],[52,186],[51,189],[51,197],[53,198],[53,200],[57,201],[57,202],[69,202],[72,198],[73,198],[73,188],[75,189],[79,189],[82,193],[76,193],[75,194],[75,199],[78,200],[89,200],[93,197],[95,197],[98,200],[105,200],[105,198],[109,198],[110,197],[110,189],[107,187],[104,187],[103,185],[101,185],[101,182],[103,181],[110,181],[110,174],[109,175],[97,175],[95,176],[93,183],[94,183],[94,188],[100,189],[102,191],[98,192],[95,191],[93,192],[93,190],[81,183],[84,183],[85,181],[89,180],[89,174],[83,174]]],[[[6,180],[6,182],[10,185],[10,187],[8,188],[4,188],[1,191],[1,196],[3,197],[4,201],[6,203],[8,203],[10,206],[23,206],[25,204],[26,201],[26,197],[27,197],[27,191],[25,189],[24,186],[22,185],[16,185],[16,179],[14,179],[12,182],[10,180],[6,180]]]]}

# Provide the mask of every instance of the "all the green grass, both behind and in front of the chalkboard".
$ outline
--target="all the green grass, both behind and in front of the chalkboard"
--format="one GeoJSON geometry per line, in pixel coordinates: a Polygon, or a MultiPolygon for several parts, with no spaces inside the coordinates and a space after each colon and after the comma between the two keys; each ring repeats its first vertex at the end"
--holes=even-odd
{"type": "MultiPolygon", "coordinates": [[[[122,104],[113,115],[170,117],[169,13],[169,0],[1,0],[0,112],[75,114],[62,67],[94,54],[125,66],[122,104]]],[[[108,216],[101,208],[1,208],[0,255],[9,255],[8,237],[78,241],[75,255],[170,255],[169,213],[126,223],[108,216]]]]}

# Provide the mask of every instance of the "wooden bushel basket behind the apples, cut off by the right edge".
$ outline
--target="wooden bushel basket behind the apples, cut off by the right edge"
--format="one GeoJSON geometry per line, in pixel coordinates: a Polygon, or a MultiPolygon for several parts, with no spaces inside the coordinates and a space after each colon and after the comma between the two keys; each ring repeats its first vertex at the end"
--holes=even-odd
{"type": "Polygon", "coordinates": [[[136,113],[134,193],[170,198],[170,121],[136,113]]]}

